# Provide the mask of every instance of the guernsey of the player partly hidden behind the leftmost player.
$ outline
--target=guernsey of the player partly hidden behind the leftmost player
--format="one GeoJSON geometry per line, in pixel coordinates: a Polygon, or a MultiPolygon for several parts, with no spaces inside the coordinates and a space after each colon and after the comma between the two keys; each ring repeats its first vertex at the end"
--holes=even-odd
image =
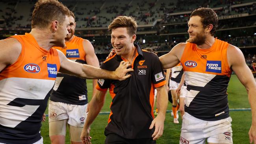
{"type": "MultiPolygon", "coordinates": [[[[86,64],[83,39],[74,36],[71,41],[65,42],[66,47],[54,47],[63,52],[72,61],[86,64]]],[[[73,105],[85,105],[88,103],[86,79],[58,73],[54,88],[50,97],[51,101],[63,102],[73,105]]]]}

